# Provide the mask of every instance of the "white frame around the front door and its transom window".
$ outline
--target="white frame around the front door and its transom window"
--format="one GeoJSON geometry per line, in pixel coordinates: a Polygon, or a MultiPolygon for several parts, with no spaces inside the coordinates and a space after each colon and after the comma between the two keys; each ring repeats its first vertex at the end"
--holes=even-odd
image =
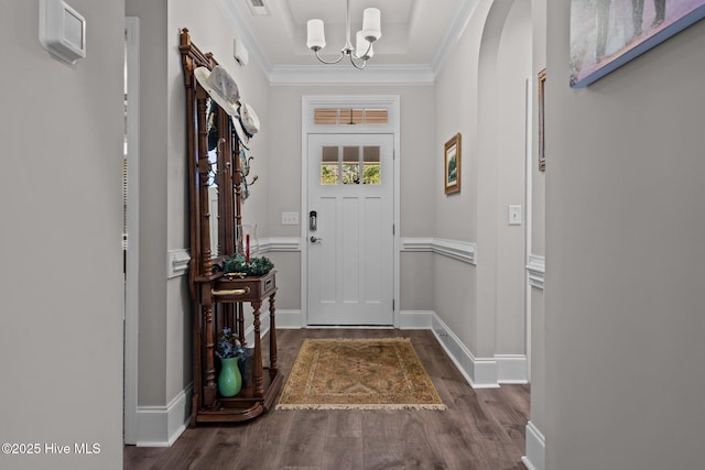
{"type": "Polygon", "coordinates": [[[307,306],[308,306],[308,243],[306,236],[308,234],[308,134],[346,134],[346,133],[386,133],[393,134],[394,140],[394,189],[393,189],[393,210],[394,210],[394,254],[393,254],[393,273],[394,273],[394,315],[393,326],[400,326],[400,186],[401,186],[401,119],[400,119],[400,97],[398,95],[384,96],[302,96],[301,100],[301,325],[307,325],[307,306]],[[318,107],[338,107],[338,108],[386,108],[389,112],[388,124],[373,125],[316,125],[313,120],[313,112],[318,107]]]}

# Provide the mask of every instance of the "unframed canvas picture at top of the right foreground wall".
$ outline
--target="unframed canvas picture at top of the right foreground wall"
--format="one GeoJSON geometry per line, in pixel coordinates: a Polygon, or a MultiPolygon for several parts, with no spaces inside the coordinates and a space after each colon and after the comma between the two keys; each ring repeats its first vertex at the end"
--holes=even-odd
{"type": "Polygon", "coordinates": [[[703,18],[705,0],[571,0],[571,87],[586,87],[703,18]]]}

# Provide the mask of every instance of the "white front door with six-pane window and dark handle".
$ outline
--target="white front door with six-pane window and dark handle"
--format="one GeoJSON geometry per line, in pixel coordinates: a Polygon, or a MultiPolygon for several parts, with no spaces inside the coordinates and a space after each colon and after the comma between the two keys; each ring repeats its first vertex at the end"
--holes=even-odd
{"type": "Polygon", "coordinates": [[[308,325],[393,324],[393,142],[308,134],[308,325]]]}

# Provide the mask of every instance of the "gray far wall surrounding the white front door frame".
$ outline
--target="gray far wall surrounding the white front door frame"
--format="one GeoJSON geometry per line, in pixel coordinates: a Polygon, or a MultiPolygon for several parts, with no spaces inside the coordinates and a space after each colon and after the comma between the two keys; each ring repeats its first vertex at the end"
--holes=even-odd
{"type": "MultiPolygon", "coordinates": [[[[303,96],[398,95],[401,107],[401,237],[427,237],[433,230],[433,187],[430,184],[438,155],[433,145],[433,87],[431,86],[274,86],[270,88],[267,125],[276,133],[269,141],[268,237],[299,237],[299,226],[282,226],[281,212],[301,211],[301,102],[303,96]]],[[[401,308],[429,310],[433,283],[426,253],[403,253],[401,308]]],[[[300,287],[301,256],[272,253],[278,284],[300,287]],[[280,261],[283,262],[280,264],[280,261]]],[[[300,291],[276,294],[281,309],[305,309],[300,291]]]]}

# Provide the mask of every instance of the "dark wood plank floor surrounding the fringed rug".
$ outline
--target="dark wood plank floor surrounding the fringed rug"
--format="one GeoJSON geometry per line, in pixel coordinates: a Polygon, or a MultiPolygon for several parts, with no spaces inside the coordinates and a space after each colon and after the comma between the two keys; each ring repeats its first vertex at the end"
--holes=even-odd
{"type": "Polygon", "coordinates": [[[446,411],[278,411],[189,428],[171,448],[126,446],[126,469],[524,470],[529,386],[473,390],[427,330],[279,330],[285,376],[304,338],[409,337],[446,411]]]}

